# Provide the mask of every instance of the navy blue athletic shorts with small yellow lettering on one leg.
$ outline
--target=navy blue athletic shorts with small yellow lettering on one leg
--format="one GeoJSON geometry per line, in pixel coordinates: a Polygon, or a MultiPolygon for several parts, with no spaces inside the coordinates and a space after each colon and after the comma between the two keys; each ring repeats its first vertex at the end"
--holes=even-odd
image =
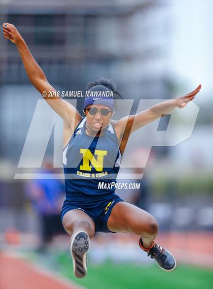
{"type": "Polygon", "coordinates": [[[70,210],[82,210],[89,215],[95,223],[95,232],[116,233],[107,227],[112,208],[115,204],[124,202],[119,196],[94,196],[85,195],[81,192],[73,193],[70,200],[65,200],[61,210],[61,220],[65,213],[70,210]]]}

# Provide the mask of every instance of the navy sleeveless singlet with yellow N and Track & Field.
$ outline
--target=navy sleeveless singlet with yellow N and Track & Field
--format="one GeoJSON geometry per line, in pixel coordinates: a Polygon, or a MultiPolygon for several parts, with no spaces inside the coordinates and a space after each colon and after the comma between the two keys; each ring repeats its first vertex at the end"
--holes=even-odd
{"type": "MultiPolygon", "coordinates": [[[[114,188],[98,188],[99,182],[115,182],[120,169],[121,152],[113,124],[103,136],[91,137],[85,132],[86,117],[76,127],[63,150],[66,200],[72,194],[115,195],[114,188]]],[[[107,185],[106,185],[107,186],[107,185]]]]}

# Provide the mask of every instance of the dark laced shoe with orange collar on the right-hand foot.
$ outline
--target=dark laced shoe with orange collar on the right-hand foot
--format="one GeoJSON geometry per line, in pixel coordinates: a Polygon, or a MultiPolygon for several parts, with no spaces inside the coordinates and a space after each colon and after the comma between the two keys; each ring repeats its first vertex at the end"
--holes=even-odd
{"type": "Polygon", "coordinates": [[[174,256],[167,250],[163,249],[160,245],[153,242],[149,248],[143,246],[143,241],[139,239],[139,246],[144,251],[148,252],[148,256],[158,263],[158,266],[165,271],[172,271],[176,267],[174,256]]]}

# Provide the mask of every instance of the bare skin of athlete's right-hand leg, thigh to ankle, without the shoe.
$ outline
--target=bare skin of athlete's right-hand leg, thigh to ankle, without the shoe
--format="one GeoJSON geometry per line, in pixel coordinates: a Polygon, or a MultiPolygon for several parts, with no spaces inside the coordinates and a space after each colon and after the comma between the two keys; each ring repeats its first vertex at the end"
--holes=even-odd
{"type": "Polygon", "coordinates": [[[152,246],[158,234],[157,221],[151,214],[125,202],[113,207],[107,226],[113,232],[132,232],[141,236],[145,248],[152,246]]]}

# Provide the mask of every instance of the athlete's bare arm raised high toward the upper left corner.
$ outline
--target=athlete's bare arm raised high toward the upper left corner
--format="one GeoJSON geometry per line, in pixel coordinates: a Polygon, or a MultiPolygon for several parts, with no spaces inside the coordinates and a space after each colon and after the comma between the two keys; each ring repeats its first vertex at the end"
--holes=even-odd
{"type": "Polygon", "coordinates": [[[33,86],[42,94],[45,91],[47,97],[44,99],[51,106],[51,108],[64,120],[66,123],[75,123],[81,120],[81,116],[74,106],[62,100],[60,97],[48,97],[49,91],[56,91],[47,81],[44,72],[34,60],[30,53],[24,39],[13,24],[3,24],[4,38],[13,42],[24,64],[25,71],[33,86]],[[78,119],[79,118],[79,119],[78,119]]]}

